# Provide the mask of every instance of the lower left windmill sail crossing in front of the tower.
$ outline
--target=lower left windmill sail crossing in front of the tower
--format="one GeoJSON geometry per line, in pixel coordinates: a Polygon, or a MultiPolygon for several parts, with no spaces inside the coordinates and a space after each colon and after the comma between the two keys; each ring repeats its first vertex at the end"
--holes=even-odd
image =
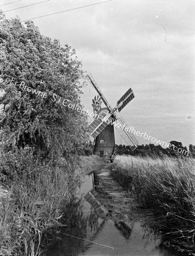
{"type": "Polygon", "coordinates": [[[104,118],[106,115],[107,114],[104,112],[101,113],[101,115],[98,115],[94,122],[92,122],[91,125],[88,127],[88,129],[90,130],[90,135],[92,137],[96,138],[101,133],[101,131],[103,131],[105,127],[107,127],[109,123],[111,123],[111,115],[109,115],[109,117],[107,117],[108,119],[105,121],[104,118]]]}

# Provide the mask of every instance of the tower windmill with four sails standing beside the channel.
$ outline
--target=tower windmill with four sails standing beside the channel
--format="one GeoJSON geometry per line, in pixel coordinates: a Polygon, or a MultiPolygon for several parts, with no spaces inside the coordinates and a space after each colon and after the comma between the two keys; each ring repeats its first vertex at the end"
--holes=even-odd
{"type": "Polygon", "coordinates": [[[95,119],[89,126],[90,135],[95,138],[94,154],[100,156],[107,155],[109,157],[113,154],[115,150],[115,131],[113,123],[122,139],[134,150],[139,143],[133,133],[128,131],[129,127],[126,125],[124,119],[118,117],[116,114],[117,111],[121,112],[121,110],[133,100],[135,97],[133,90],[129,88],[120,100],[117,101],[115,108],[112,108],[91,74],[87,75],[87,79],[100,96],[100,98],[95,97],[93,100],[92,106],[94,108],[95,119]],[[101,100],[104,102],[106,108],[101,108],[101,100]]]}

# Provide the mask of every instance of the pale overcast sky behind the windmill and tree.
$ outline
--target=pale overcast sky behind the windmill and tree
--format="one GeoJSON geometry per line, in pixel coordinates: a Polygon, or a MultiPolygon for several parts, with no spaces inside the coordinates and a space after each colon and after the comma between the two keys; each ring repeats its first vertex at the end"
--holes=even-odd
{"type": "MultiPolygon", "coordinates": [[[[1,0],[1,9],[44,0],[14,1],[1,0]]],[[[104,1],[49,0],[5,15],[25,20],[98,2],[104,1]]],[[[194,0],[113,0],[33,22],[41,34],[75,48],[84,71],[92,73],[113,107],[133,89],[135,98],[120,112],[128,126],[188,146],[195,144],[194,18],[194,0]]],[[[95,90],[88,85],[83,92],[83,104],[92,111],[95,90]]],[[[116,143],[121,143],[117,131],[116,143]]]]}

